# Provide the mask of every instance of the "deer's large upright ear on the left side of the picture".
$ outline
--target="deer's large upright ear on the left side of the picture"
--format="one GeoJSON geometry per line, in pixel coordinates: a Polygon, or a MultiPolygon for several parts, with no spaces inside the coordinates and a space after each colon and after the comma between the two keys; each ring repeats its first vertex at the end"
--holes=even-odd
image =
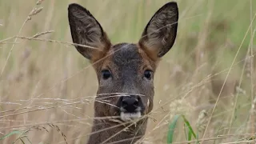
{"type": "Polygon", "coordinates": [[[75,46],[80,54],[90,60],[106,54],[110,40],[90,11],[73,3],[68,7],[68,18],[73,42],[84,45],[75,46]]]}

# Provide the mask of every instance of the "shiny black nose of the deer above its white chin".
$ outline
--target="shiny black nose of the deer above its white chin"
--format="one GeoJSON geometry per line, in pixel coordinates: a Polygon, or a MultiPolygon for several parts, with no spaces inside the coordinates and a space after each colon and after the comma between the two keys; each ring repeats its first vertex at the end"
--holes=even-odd
{"type": "Polygon", "coordinates": [[[122,97],[121,106],[126,112],[134,113],[138,108],[139,98],[122,97]]]}

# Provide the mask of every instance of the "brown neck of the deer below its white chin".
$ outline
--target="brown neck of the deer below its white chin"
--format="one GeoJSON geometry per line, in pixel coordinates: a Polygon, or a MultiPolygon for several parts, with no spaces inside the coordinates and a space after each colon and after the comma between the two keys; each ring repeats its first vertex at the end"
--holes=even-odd
{"type": "Polygon", "coordinates": [[[118,120],[94,120],[93,124],[87,144],[133,144],[145,134],[147,118],[126,125],[118,120]]]}

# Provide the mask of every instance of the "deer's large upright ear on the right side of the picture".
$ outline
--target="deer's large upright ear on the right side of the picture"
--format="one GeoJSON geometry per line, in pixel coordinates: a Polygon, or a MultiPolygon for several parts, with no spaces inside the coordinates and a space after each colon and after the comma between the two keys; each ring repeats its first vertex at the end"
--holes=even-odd
{"type": "Polygon", "coordinates": [[[168,2],[150,19],[139,44],[161,58],[174,45],[178,28],[178,6],[168,2]]]}

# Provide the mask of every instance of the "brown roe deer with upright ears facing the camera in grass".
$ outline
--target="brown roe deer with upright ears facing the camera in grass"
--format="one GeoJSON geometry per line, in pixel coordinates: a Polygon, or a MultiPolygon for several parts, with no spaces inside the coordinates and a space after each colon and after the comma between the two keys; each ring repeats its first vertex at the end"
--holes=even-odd
{"type": "Polygon", "coordinates": [[[69,5],[68,18],[76,49],[94,64],[98,77],[88,144],[137,142],[153,108],[156,67],[175,42],[177,3],[168,2],[154,14],[138,43],[112,45],[90,11],[78,4],[69,5]]]}

